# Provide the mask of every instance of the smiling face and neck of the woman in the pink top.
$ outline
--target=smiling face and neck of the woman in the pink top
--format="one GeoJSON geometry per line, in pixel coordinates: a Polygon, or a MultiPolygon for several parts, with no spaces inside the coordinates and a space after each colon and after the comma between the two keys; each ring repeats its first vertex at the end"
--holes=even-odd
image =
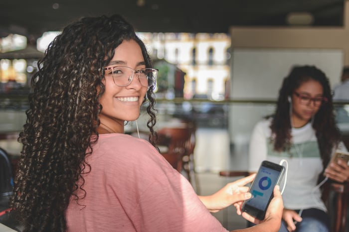
{"type": "MultiPolygon", "coordinates": [[[[127,66],[134,70],[145,68],[141,47],[134,40],[124,40],[106,68],[127,66]]],[[[99,115],[101,125],[99,133],[124,132],[124,122],[136,120],[140,115],[140,107],[147,92],[147,87],[141,85],[136,75],[128,86],[115,85],[110,70],[105,71],[105,92],[99,103],[103,109],[99,115]]]]}

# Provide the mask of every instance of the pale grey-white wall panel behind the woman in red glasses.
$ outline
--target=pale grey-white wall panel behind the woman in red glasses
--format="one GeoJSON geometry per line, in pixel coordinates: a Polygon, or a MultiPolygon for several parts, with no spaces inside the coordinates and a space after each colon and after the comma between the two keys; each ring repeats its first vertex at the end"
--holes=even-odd
{"type": "Polygon", "coordinates": [[[282,80],[294,65],[315,65],[331,86],[340,82],[343,67],[340,49],[253,49],[232,51],[231,98],[276,99],[282,80]]]}

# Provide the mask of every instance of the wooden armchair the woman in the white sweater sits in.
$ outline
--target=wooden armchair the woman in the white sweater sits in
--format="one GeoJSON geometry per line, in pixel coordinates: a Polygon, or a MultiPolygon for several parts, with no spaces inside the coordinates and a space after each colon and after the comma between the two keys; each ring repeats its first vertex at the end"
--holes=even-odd
{"type": "MultiPolygon", "coordinates": [[[[247,171],[220,171],[219,175],[224,177],[244,177],[251,173],[247,171]]],[[[349,183],[331,183],[326,182],[323,185],[322,199],[324,200],[327,208],[334,207],[333,212],[335,215],[330,215],[332,220],[332,232],[345,232],[346,230],[346,219],[348,209],[348,198],[349,198],[349,183]],[[334,193],[334,197],[331,196],[331,192],[334,193]],[[335,200],[335,205],[331,206],[335,200]]]]}

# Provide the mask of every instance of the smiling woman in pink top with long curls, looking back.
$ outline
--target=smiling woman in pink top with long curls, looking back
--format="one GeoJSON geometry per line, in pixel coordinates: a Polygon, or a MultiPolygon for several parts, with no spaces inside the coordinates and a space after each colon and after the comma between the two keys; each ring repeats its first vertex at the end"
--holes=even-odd
{"type": "MultiPolygon", "coordinates": [[[[210,214],[241,214],[254,176],[197,196],[154,147],[157,70],[122,17],[87,17],[65,27],[33,77],[12,208],[24,231],[226,231],[210,214]],[[124,134],[142,104],[150,143],[124,134]]],[[[277,231],[275,197],[259,231],[277,231]]],[[[243,213],[247,220],[258,220],[243,213]]],[[[246,229],[250,231],[250,229],[246,229]]]]}

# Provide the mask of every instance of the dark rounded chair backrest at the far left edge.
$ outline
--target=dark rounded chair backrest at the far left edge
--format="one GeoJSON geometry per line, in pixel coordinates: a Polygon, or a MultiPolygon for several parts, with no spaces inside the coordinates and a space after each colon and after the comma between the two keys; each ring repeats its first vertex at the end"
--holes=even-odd
{"type": "Polygon", "coordinates": [[[13,190],[12,166],[7,152],[0,148],[0,211],[8,207],[13,190]]]}

